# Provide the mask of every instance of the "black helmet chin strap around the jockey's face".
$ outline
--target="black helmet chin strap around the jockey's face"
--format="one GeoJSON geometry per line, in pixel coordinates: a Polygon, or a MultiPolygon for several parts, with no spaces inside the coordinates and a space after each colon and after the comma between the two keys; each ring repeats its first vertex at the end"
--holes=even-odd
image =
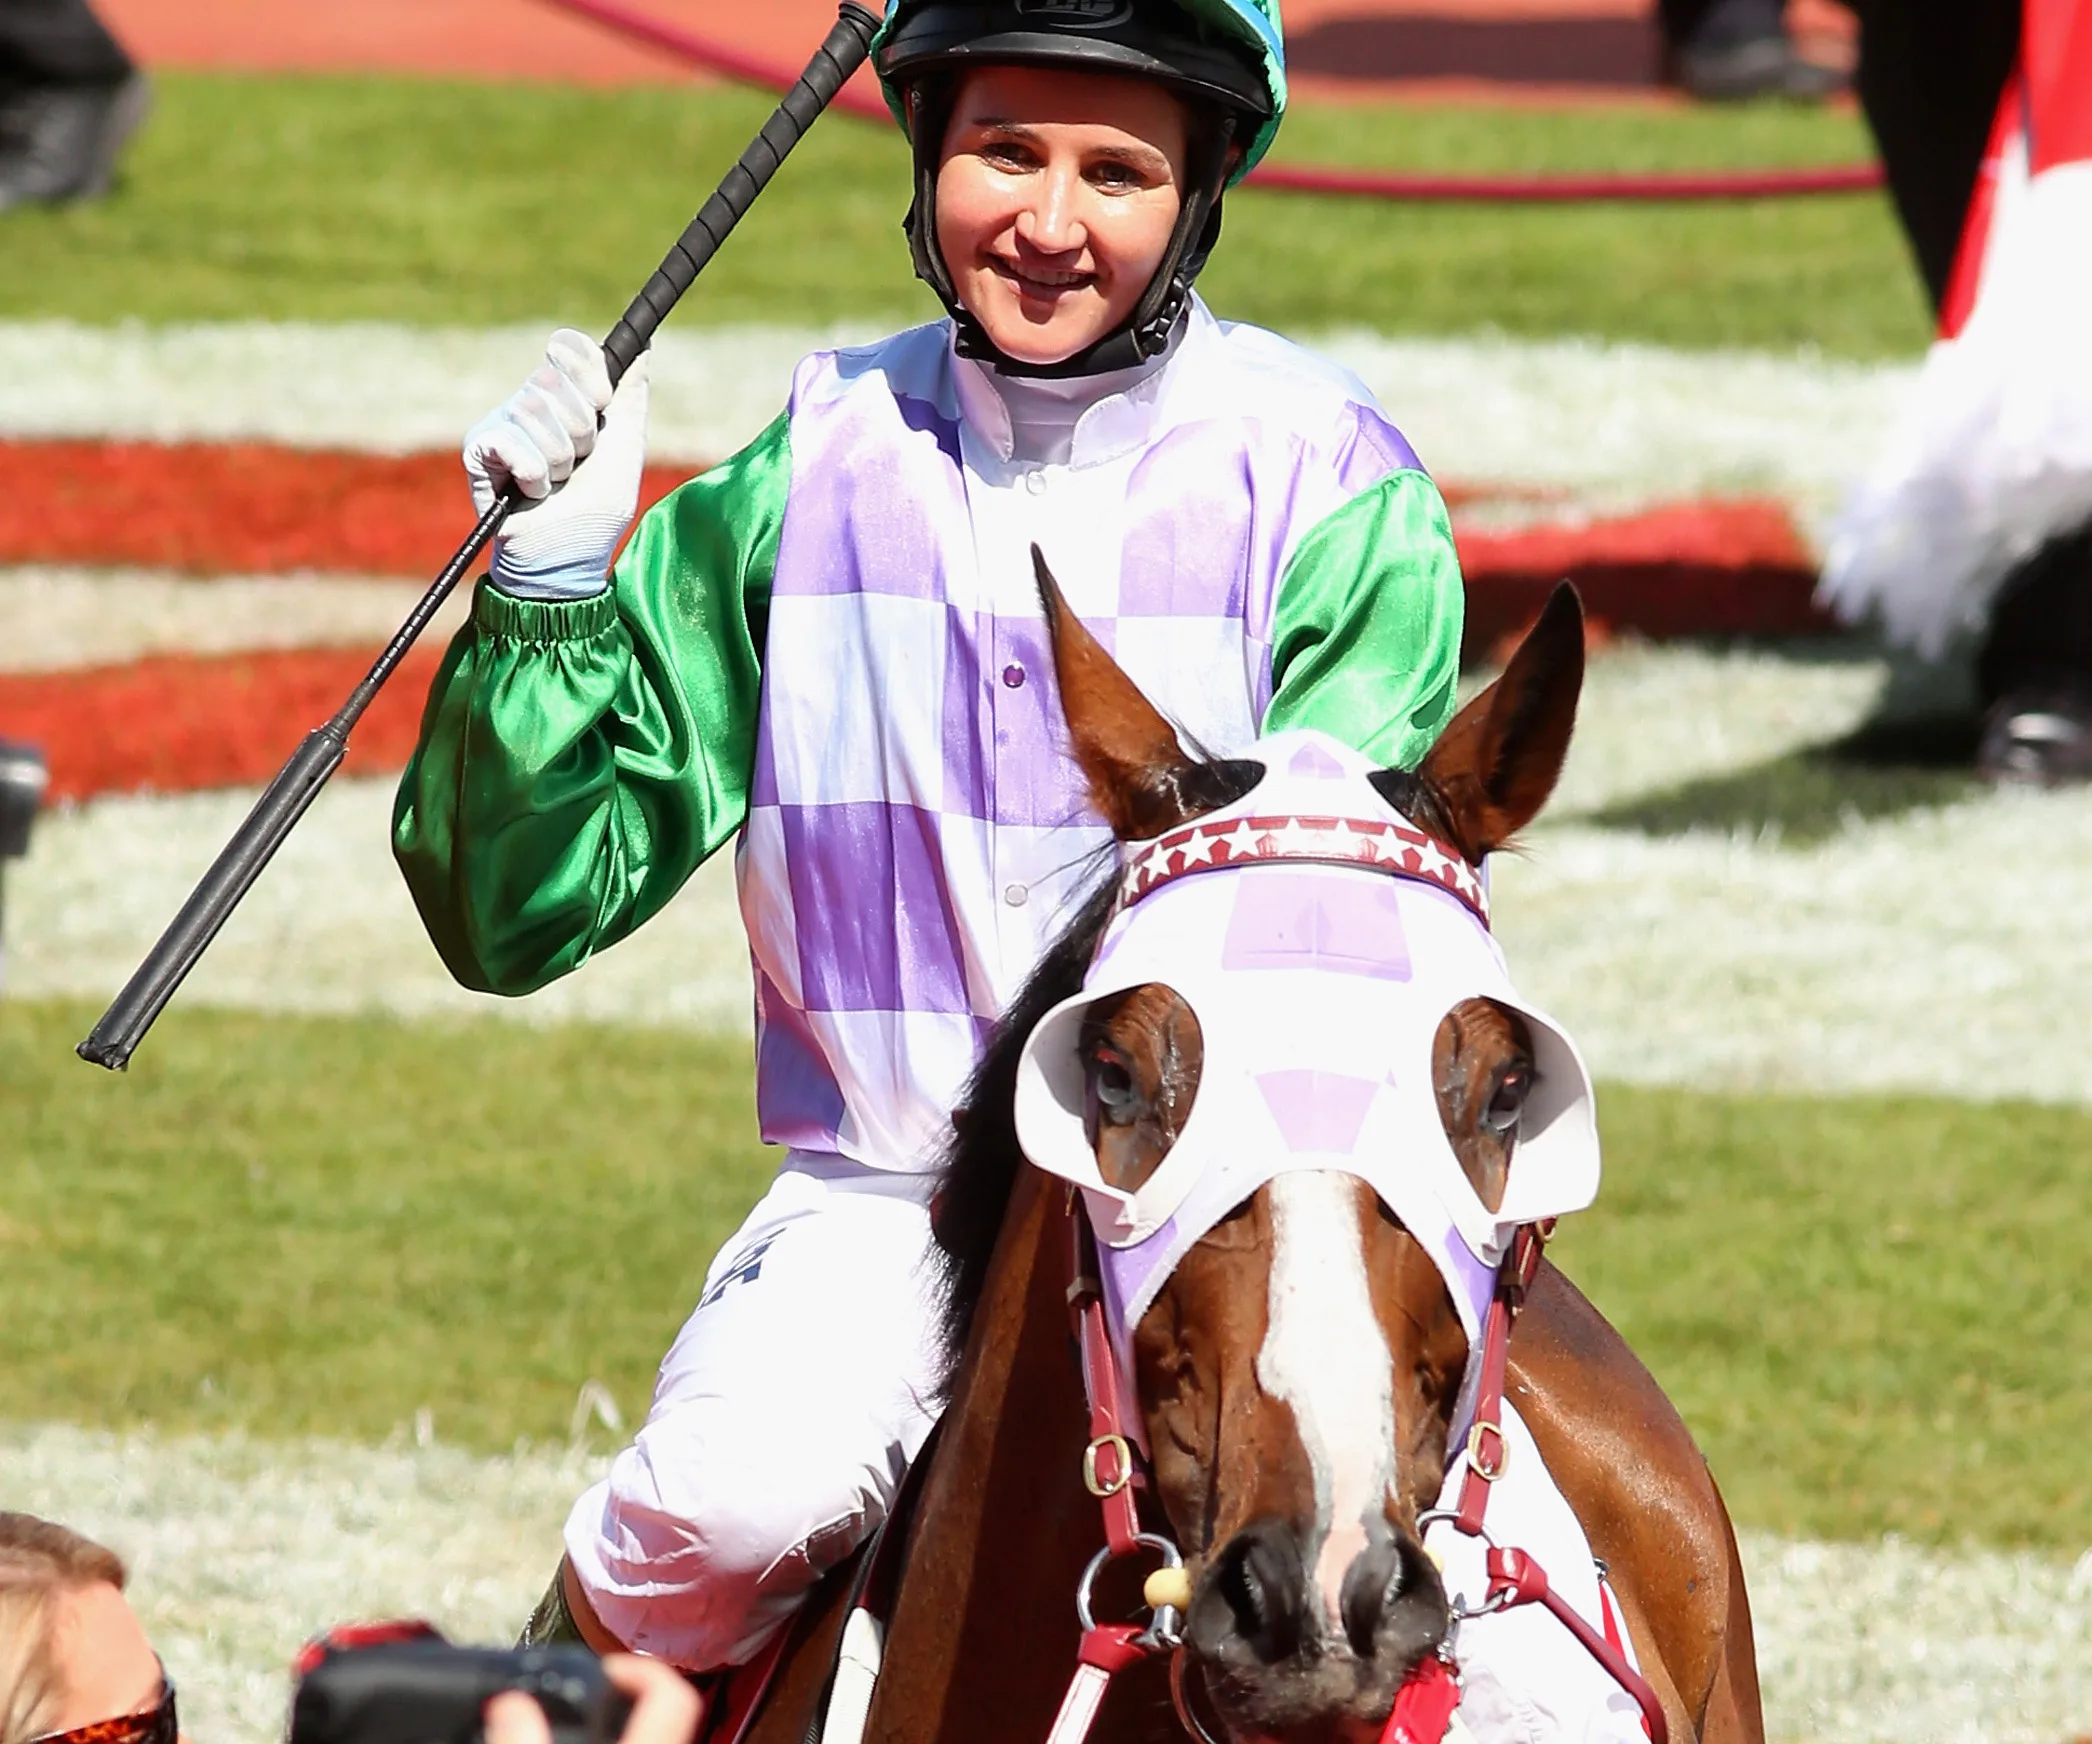
{"type": "Polygon", "coordinates": [[[1169,232],[1169,247],[1155,268],[1146,291],[1134,312],[1111,332],[1071,358],[1052,364],[1027,364],[1010,358],[990,337],[958,299],[952,272],[943,261],[937,243],[937,159],[943,146],[943,130],[950,119],[952,94],[943,79],[923,79],[908,92],[910,140],[914,142],[914,199],[902,230],[908,232],[908,253],[914,259],[916,278],[937,293],[952,316],[954,349],[960,358],[992,364],[1006,376],[1033,376],[1044,381],[1065,381],[1069,376],[1096,376],[1109,370],[1125,370],[1144,364],[1149,358],[1169,349],[1184,305],[1190,301],[1192,280],[1205,266],[1207,255],[1220,240],[1220,197],[1228,186],[1228,155],[1234,146],[1236,117],[1215,115],[1192,128],[1190,148],[1184,165],[1184,201],[1178,207],[1176,228],[1169,232]]]}

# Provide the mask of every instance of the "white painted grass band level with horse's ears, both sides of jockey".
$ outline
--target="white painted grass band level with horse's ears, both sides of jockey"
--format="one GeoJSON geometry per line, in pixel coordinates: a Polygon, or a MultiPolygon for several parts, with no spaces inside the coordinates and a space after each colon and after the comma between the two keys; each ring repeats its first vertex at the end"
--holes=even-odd
{"type": "MultiPolygon", "coordinates": [[[[1494,864],[1523,991],[1611,1079],[2092,1102],[2092,795],[1983,795],[1814,847],[1600,828],[1598,807],[1837,738],[1877,663],[1628,648],[1592,663],[1554,809],[1494,864]]],[[[10,987],[105,1000],[249,793],[109,799],[38,826],[10,872],[10,987]]],[[[747,1031],[728,855],[638,939],[529,1000],[458,989],[389,851],[391,782],[335,782],[184,1000],[272,1010],[498,1012],[747,1031]]]]}

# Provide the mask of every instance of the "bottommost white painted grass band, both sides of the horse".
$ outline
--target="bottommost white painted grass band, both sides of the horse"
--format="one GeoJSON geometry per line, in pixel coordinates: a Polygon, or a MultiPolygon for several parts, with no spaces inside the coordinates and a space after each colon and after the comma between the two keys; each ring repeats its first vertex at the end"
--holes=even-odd
{"type": "MultiPolygon", "coordinates": [[[[0,1497],[105,1539],[195,1738],[280,1738],[299,1644],[427,1616],[508,1642],[598,1462],[450,1447],[0,1430],[0,1497]]],[[[1747,1533],[1774,1740],[2059,1744],[2092,1715],[2092,1554],[2067,1560],[1747,1533]]]]}

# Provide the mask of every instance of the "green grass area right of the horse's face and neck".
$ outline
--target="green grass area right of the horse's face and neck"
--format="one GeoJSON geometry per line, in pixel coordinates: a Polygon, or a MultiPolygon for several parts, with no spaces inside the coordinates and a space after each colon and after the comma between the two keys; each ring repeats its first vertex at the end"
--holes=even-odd
{"type": "Polygon", "coordinates": [[[2073,1108],[1600,1096],[1607,1181],[1559,1259],[1751,1527],[2092,1543],[2073,1108]]]}

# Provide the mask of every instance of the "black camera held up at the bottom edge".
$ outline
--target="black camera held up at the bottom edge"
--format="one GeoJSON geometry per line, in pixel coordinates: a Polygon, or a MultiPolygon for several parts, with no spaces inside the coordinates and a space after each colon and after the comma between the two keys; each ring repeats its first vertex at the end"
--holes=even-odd
{"type": "Polygon", "coordinates": [[[289,1744],[477,1744],[502,1690],[538,1698],[554,1744],[613,1744],[632,1715],[588,1648],[393,1642],[324,1654],[291,1698],[289,1744]]]}

